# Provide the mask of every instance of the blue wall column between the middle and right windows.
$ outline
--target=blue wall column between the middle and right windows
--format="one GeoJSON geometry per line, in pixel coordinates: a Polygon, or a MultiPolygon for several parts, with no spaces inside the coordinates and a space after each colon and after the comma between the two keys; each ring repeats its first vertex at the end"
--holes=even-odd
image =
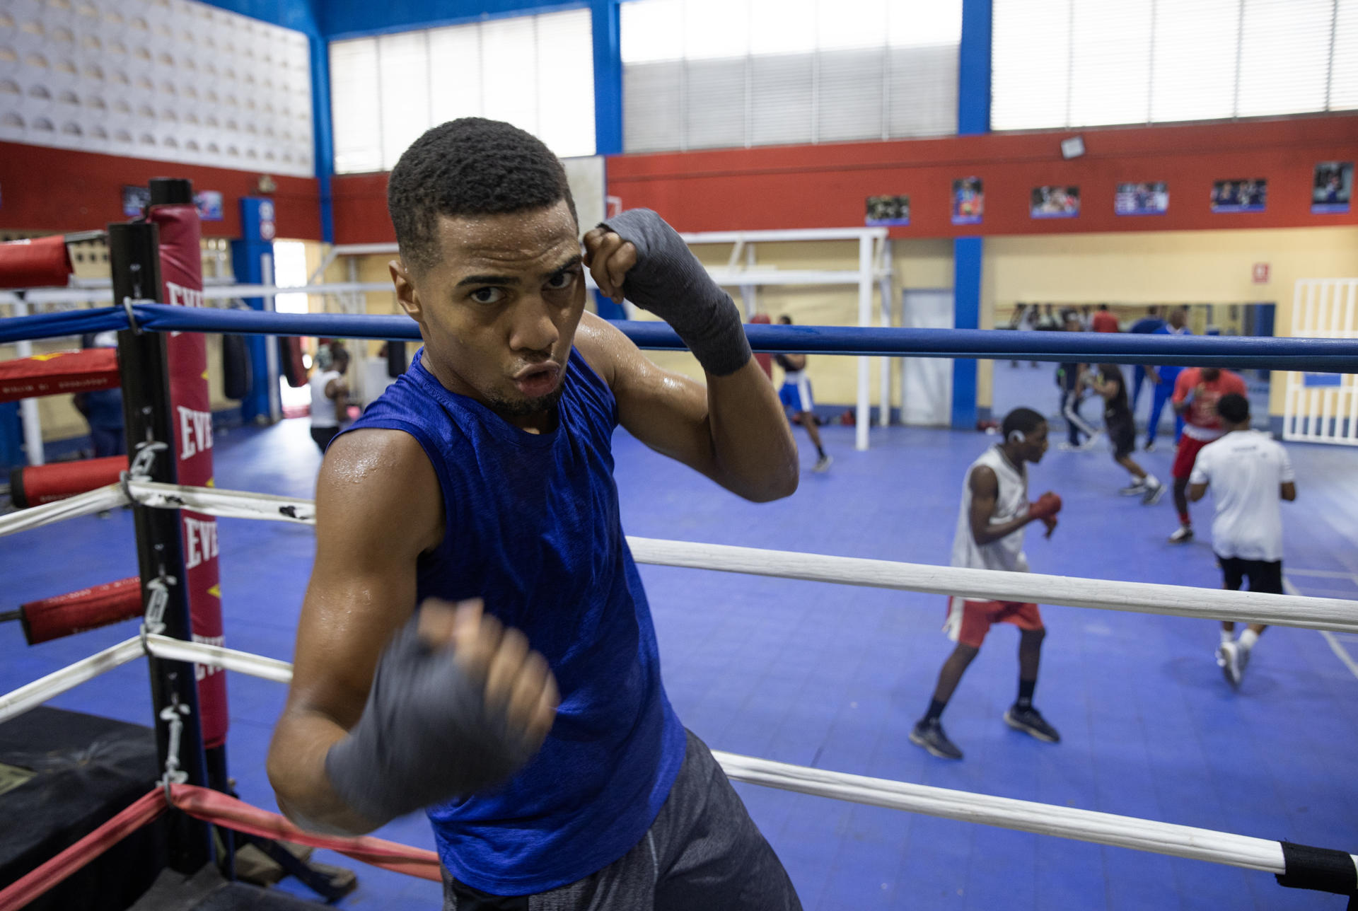
{"type": "MultiPolygon", "coordinates": [[[[961,48],[957,53],[957,134],[990,132],[991,0],[961,0],[961,48]]],[[[980,327],[980,238],[953,240],[953,326],[980,327]]],[[[976,361],[952,362],[952,426],[976,426],[976,361]]]]}

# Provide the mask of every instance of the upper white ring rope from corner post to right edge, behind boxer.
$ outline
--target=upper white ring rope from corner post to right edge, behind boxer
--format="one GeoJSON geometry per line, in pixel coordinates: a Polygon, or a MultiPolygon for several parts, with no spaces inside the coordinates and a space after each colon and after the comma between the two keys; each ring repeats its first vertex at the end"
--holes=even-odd
{"type": "MultiPolygon", "coordinates": [[[[216,487],[183,487],[129,481],[133,497],[149,506],[187,508],[213,516],[315,523],[315,502],[216,487]]],[[[930,595],[966,595],[997,601],[1067,604],[1211,620],[1270,623],[1358,633],[1358,601],[1266,592],[1229,592],[1154,582],[1122,582],[1042,573],[928,566],[858,557],[799,554],[758,547],[627,538],[638,563],[747,573],[812,582],[891,588],[930,595]]]]}

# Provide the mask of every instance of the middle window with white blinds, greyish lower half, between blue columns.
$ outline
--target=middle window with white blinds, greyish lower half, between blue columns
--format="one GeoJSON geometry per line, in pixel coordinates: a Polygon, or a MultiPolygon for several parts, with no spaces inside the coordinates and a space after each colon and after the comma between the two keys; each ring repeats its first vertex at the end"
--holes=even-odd
{"type": "Polygon", "coordinates": [[[957,132],[961,1],[633,0],[627,152],[957,132]]]}

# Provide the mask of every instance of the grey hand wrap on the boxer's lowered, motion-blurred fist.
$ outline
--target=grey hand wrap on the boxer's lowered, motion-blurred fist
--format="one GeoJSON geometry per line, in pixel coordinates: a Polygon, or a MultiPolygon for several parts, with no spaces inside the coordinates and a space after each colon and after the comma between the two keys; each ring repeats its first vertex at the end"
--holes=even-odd
{"type": "Polygon", "coordinates": [[[485,682],[432,649],[410,620],[382,656],[368,705],[326,755],[330,786],[376,823],[497,785],[535,744],[485,705],[485,682]]]}

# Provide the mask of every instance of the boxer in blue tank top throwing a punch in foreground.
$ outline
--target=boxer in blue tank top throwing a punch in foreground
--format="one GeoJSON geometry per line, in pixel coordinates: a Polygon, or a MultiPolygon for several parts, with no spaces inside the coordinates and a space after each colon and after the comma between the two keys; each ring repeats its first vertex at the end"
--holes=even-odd
{"type": "Polygon", "coordinates": [[[445,908],[800,908],[665,698],[612,479],[622,425],[746,498],[796,489],[739,312],[653,212],[581,253],[559,162],[507,124],[425,133],[388,208],[424,348],[320,468],[278,805],[342,832],[425,809],[445,908]],[[584,312],[585,267],[706,387],[584,312]]]}

